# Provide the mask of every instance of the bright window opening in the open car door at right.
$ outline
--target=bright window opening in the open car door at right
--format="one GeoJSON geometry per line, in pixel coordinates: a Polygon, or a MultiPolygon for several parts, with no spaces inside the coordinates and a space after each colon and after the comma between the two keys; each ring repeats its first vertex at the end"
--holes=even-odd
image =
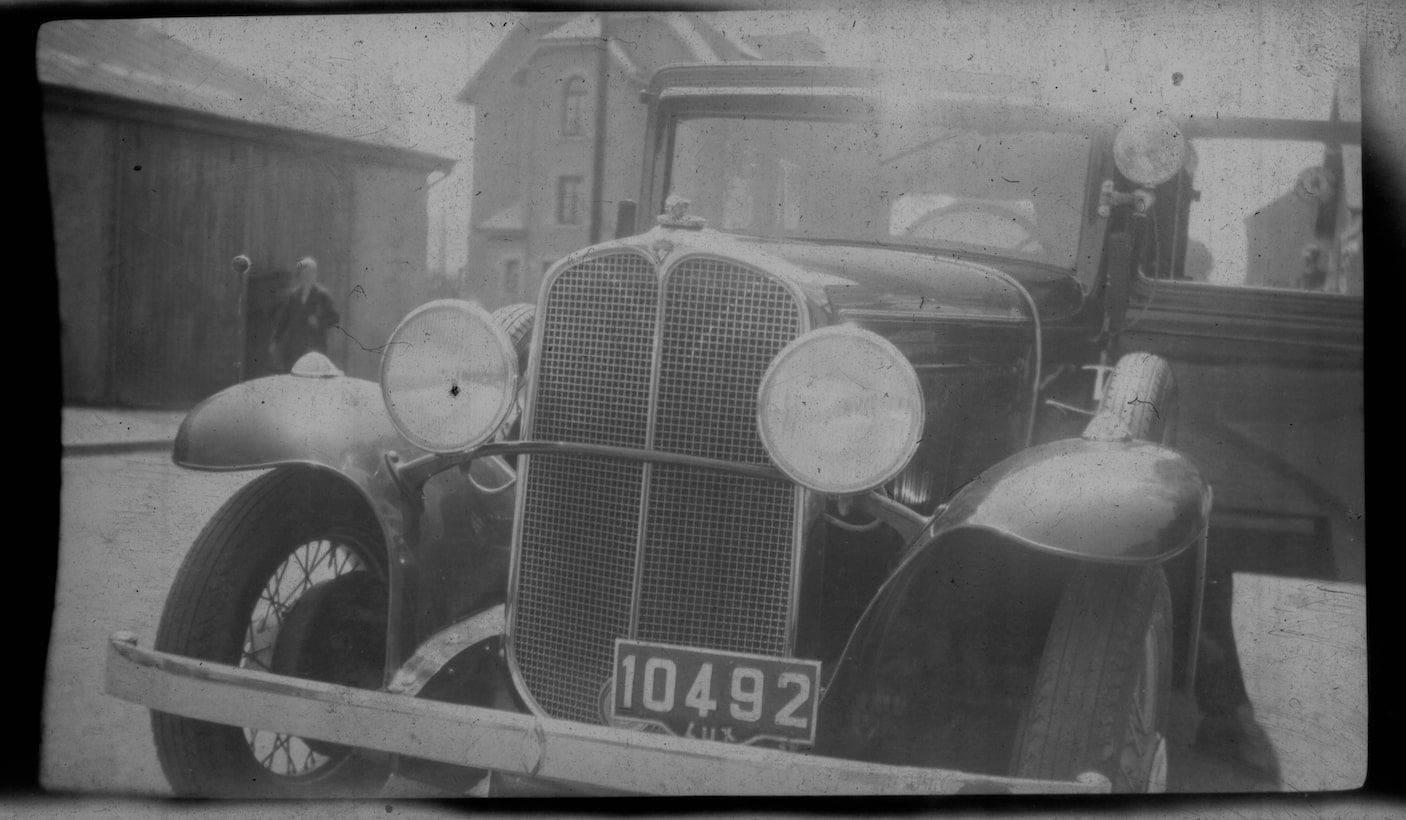
{"type": "Polygon", "coordinates": [[[1180,278],[1362,293],[1357,146],[1205,138],[1189,148],[1180,278]]]}

